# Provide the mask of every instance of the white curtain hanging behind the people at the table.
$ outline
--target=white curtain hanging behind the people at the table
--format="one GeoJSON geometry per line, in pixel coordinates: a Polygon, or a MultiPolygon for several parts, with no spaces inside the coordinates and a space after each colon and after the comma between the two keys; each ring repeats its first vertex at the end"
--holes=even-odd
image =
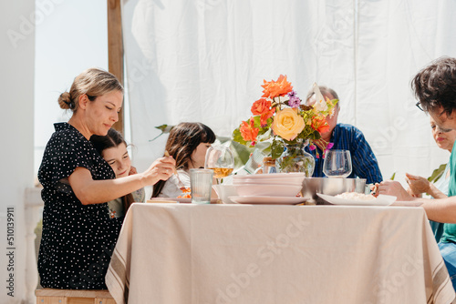
{"type": "Polygon", "coordinates": [[[456,56],[454,1],[124,0],[123,35],[134,161],[163,153],[162,124],[200,121],[230,137],[263,79],[314,82],[340,97],[339,122],[359,127],[385,179],[430,176],[448,161],[415,106],[410,79],[456,56]]]}

